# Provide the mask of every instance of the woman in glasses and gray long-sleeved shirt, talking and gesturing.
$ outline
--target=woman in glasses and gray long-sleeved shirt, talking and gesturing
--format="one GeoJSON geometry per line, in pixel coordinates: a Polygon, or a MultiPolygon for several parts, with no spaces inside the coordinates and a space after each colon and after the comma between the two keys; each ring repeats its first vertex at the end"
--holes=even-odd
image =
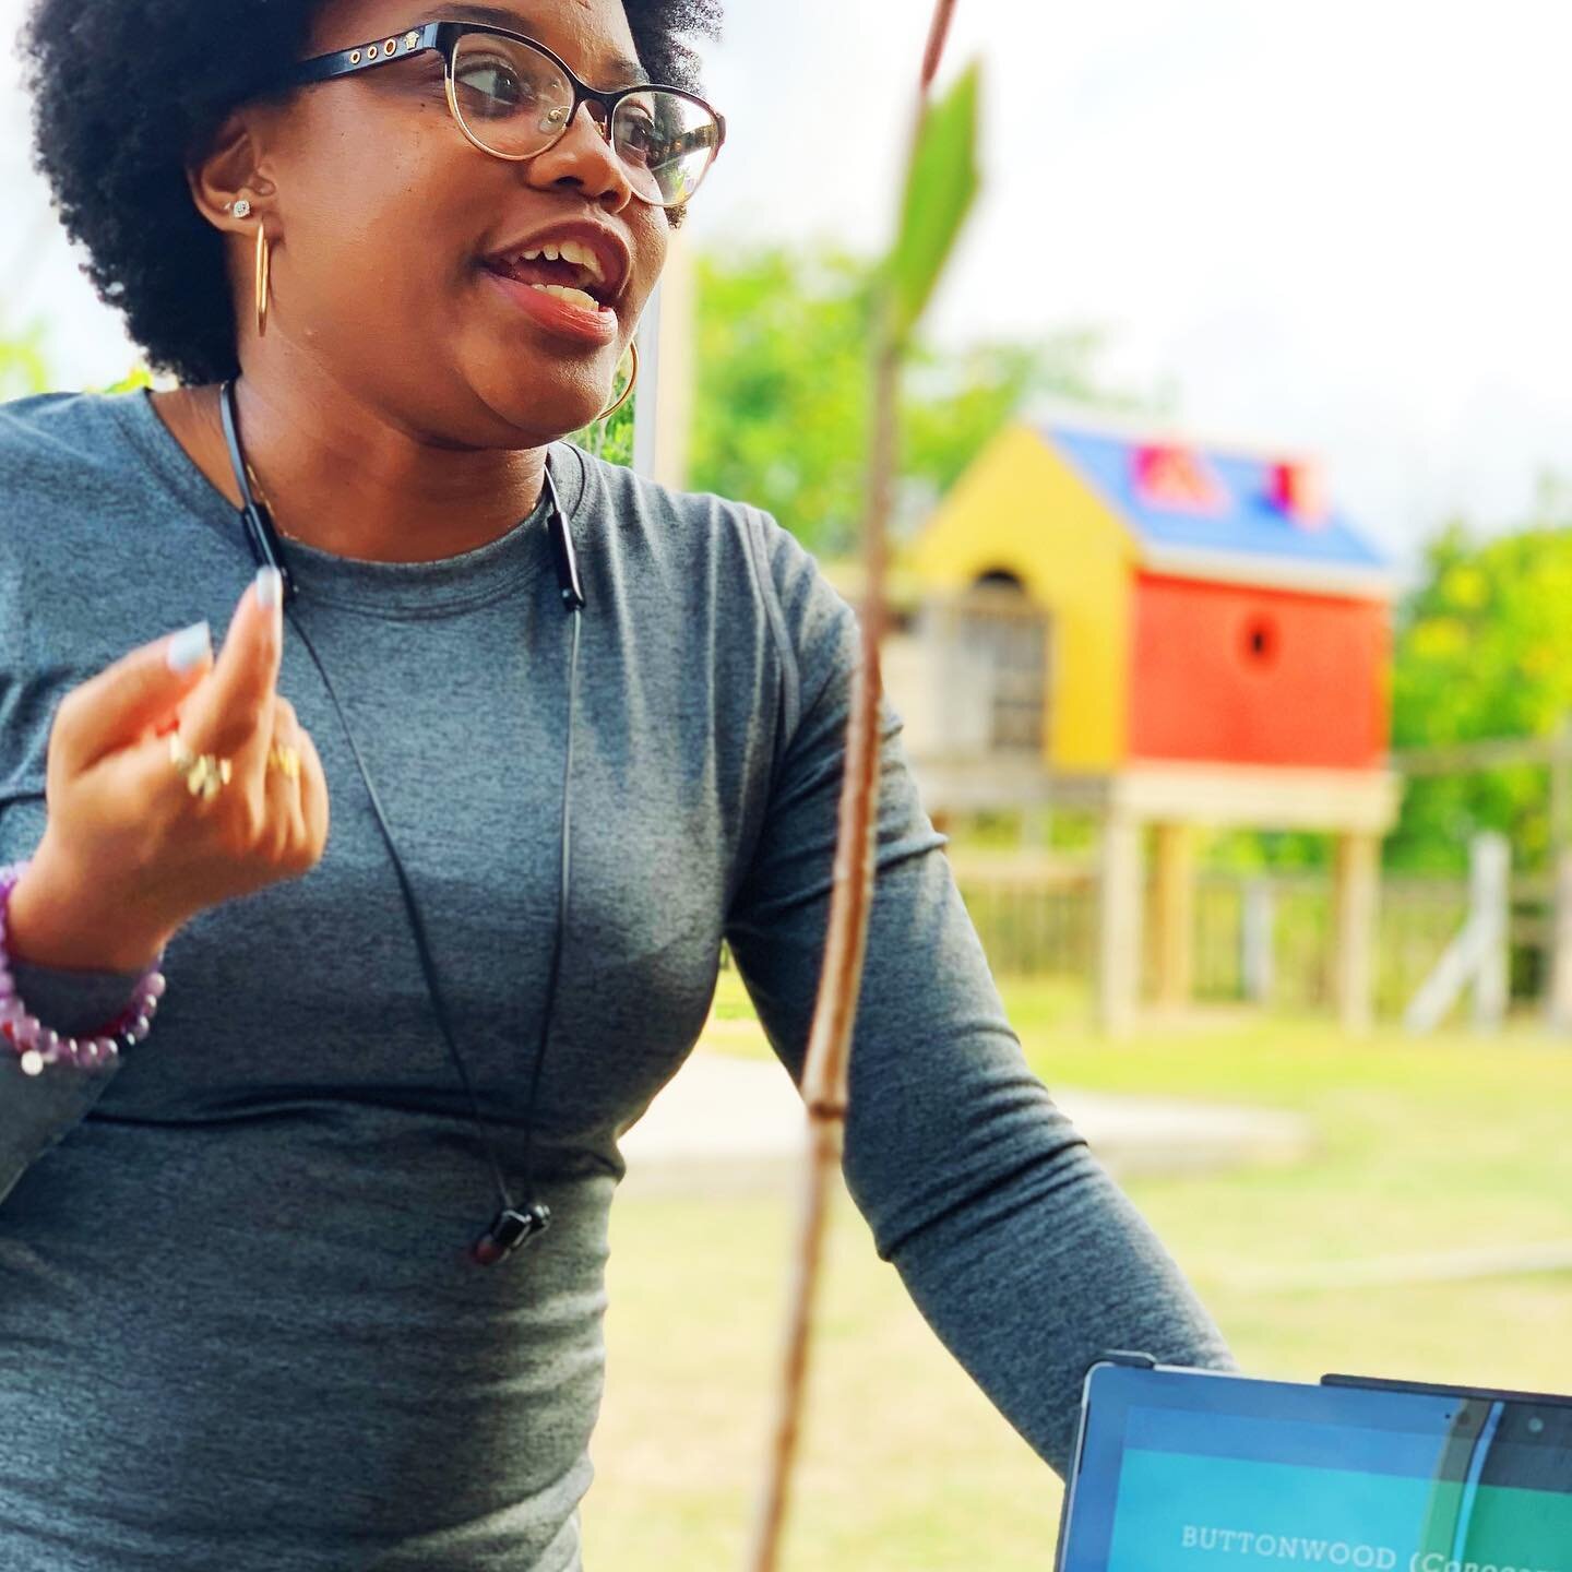
{"type": "MultiPolygon", "coordinates": [[[[41,162],[179,387],[0,410],[8,1572],[578,1566],[618,1137],[723,938],[800,1069],[854,654],[770,519],[563,440],[722,140],[610,85],[690,91],[711,9],[35,8],[41,162]],[[245,490],[291,583],[212,656],[245,490]]],[[[846,1170],[1055,1467],[1099,1352],[1226,1363],[893,723],[846,1170]]]]}

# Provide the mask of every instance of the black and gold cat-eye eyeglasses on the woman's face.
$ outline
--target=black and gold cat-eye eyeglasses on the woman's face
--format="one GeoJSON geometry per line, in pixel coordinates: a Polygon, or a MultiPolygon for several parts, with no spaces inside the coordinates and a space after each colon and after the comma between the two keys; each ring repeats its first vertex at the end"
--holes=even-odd
{"type": "Polygon", "coordinates": [[[634,192],[681,208],[709,173],[726,121],[695,93],[638,83],[593,88],[567,63],[522,33],[473,22],[428,22],[393,38],[305,60],[288,85],[347,77],[437,50],[446,61],[448,108],[459,130],[497,159],[533,159],[567,135],[580,104],[616,151],[634,192]]]}

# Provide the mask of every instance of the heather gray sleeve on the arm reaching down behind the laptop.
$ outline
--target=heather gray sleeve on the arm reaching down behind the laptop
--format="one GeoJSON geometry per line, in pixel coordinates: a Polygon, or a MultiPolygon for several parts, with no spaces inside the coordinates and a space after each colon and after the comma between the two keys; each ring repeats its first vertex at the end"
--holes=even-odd
{"type": "MultiPolygon", "coordinates": [[[[784,531],[764,522],[756,539],[797,681],[783,682],[769,819],[728,937],[795,1080],[828,913],[855,623],[784,531]]],[[[929,1324],[1063,1473],[1080,1383],[1100,1353],[1231,1360],[1177,1267],[1027,1067],[898,733],[887,712],[846,1179],[929,1324]]]]}

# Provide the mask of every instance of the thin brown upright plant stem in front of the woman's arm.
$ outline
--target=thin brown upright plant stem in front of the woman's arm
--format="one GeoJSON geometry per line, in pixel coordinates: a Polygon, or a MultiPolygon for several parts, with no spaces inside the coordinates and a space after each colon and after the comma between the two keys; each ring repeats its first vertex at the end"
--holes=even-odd
{"type": "MultiPolygon", "coordinates": [[[[938,72],[954,0],[937,0],[912,146],[921,134],[929,88],[938,72]]],[[[885,629],[885,569],[896,468],[896,424],[904,343],[893,324],[890,292],[880,291],[879,349],[874,366],[874,432],[863,517],[868,585],[861,616],[860,663],[852,690],[841,780],[835,885],[825,935],[824,970],[814,1001],[802,1096],[808,1107],[808,1171],[797,1229],[795,1270],[788,1308],[786,1347],[777,1390],[777,1413],[764,1489],[748,1547],[750,1572],[775,1572],[791,1501],[791,1478],[802,1432],[803,1391],[817,1298],[819,1269],[835,1174],[846,1137],[852,1025],[863,981],[863,954],[874,888],[874,841],[879,811],[879,643],[885,629]]]]}

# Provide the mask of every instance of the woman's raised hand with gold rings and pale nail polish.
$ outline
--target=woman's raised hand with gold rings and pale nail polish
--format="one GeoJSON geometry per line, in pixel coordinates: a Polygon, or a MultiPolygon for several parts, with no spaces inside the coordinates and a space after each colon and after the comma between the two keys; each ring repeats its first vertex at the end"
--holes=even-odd
{"type": "Polygon", "coordinates": [[[140,970],[198,912],[321,861],[327,781],[278,695],[280,601],[277,574],[264,569],[241,596],[217,662],[198,624],[134,649],[61,700],[49,821],[11,891],[17,959],[140,970]],[[182,762],[228,761],[217,791],[192,789],[171,737],[182,762]],[[289,750],[299,770],[280,764],[289,750]]]}

